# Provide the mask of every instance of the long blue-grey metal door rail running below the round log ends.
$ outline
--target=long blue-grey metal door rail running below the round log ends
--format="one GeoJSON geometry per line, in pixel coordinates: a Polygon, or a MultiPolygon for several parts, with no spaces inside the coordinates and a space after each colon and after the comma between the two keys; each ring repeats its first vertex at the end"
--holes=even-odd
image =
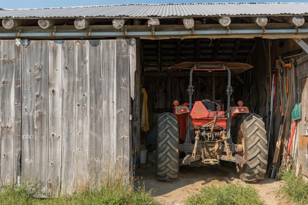
{"type": "MultiPolygon", "coordinates": [[[[308,33],[308,29],[301,29],[298,33],[297,29],[267,29],[267,34],[304,34],[308,33]]],[[[235,34],[263,34],[262,29],[234,29],[231,30],[229,36],[235,34]]],[[[36,33],[20,33],[20,37],[52,37],[51,33],[36,32],[36,33]]],[[[195,35],[228,35],[227,30],[195,30],[195,35]]],[[[123,37],[123,32],[91,32],[91,37],[123,37]]],[[[140,36],[153,36],[151,31],[127,31],[128,37],[140,37],[140,36]]],[[[180,31],[155,31],[155,36],[192,36],[191,30],[180,31]]],[[[0,33],[0,37],[17,37],[16,32],[12,33],[0,33]]],[[[88,32],[55,32],[54,37],[89,37],[88,32]]],[[[296,36],[294,36],[296,37],[296,36]]]]}

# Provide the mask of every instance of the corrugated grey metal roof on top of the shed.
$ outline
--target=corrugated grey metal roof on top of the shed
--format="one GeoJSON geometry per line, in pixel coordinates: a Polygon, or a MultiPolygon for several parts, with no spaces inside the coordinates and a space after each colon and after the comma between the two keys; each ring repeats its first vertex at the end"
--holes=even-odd
{"type": "Polygon", "coordinates": [[[308,14],[308,3],[130,4],[0,10],[0,17],[184,17],[308,14]]]}

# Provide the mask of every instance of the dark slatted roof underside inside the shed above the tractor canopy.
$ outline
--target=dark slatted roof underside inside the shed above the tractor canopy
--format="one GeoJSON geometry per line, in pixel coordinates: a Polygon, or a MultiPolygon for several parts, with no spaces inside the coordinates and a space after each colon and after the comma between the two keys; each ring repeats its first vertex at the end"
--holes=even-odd
{"type": "Polygon", "coordinates": [[[143,40],[143,70],[159,71],[181,62],[246,63],[254,39],[195,38],[143,40]]]}

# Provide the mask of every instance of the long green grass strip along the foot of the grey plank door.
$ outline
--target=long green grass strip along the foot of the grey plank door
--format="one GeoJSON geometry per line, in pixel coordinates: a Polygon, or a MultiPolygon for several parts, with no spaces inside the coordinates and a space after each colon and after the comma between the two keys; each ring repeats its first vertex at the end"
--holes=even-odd
{"type": "Polygon", "coordinates": [[[58,198],[39,199],[38,184],[21,186],[2,186],[1,205],[159,205],[144,190],[144,186],[134,188],[133,183],[124,185],[121,180],[107,179],[99,188],[88,186],[79,188],[72,196],[62,195],[58,198]]]}

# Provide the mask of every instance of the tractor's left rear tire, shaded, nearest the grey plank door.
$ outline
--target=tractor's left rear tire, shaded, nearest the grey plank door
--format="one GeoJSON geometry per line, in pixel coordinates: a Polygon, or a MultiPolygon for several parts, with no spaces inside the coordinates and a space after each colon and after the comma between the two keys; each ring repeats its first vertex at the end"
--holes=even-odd
{"type": "Polygon", "coordinates": [[[156,125],[156,177],[176,181],[179,174],[179,125],[176,115],[158,115],[156,125]]]}

